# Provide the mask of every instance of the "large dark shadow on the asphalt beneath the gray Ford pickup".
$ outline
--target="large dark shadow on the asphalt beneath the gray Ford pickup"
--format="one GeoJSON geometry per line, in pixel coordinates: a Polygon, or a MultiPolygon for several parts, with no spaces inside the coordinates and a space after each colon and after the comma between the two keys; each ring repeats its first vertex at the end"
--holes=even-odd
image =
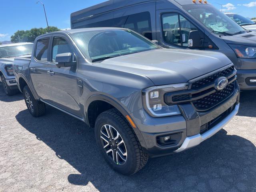
{"type": "Polygon", "coordinates": [[[122,176],[108,167],[98,151],[93,130],[83,122],[50,106],[40,118],[23,110],[16,119],[80,172],[67,178],[74,185],[90,182],[102,192],[256,190],[254,144],[227,135],[225,130],[196,148],[150,159],[137,174],[122,176]]]}

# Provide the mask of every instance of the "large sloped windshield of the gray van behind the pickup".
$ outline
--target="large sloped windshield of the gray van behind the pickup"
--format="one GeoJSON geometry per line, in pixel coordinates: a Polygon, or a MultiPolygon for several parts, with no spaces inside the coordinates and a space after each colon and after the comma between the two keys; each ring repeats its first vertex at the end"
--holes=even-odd
{"type": "Polygon", "coordinates": [[[183,6],[183,8],[216,34],[235,35],[246,32],[244,28],[213,6],[194,4],[183,6]]]}

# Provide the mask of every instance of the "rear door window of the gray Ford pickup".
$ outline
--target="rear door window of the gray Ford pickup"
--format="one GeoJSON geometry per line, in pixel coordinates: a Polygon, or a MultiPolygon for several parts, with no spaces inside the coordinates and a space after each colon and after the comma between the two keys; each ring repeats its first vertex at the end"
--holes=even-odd
{"type": "Polygon", "coordinates": [[[50,38],[40,39],[36,43],[36,59],[39,61],[47,61],[48,46],[50,38]]]}

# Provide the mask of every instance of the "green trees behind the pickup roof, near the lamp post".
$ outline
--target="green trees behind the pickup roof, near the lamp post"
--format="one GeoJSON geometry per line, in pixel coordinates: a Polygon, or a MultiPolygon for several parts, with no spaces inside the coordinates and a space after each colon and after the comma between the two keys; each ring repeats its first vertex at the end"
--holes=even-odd
{"type": "MultiPolygon", "coordinates": [[[[49,26],[50,32],[60,31],[57,27],[49,26]]],[[[32,28],[30,30],[18,30],[11,36],[11,42],[34,42],[37,36],[48,33],[48,28],[32,28]]]]}

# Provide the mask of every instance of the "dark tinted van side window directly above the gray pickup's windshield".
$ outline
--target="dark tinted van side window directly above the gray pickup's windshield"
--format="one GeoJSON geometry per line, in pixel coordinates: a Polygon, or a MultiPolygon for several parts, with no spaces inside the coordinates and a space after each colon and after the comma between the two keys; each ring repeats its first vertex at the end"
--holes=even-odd
{"type": "Polygon", "coordinates": [[[152,27],[149,12],[115,18],[114,26],[134,30],[152,40],[152,27]]]}

